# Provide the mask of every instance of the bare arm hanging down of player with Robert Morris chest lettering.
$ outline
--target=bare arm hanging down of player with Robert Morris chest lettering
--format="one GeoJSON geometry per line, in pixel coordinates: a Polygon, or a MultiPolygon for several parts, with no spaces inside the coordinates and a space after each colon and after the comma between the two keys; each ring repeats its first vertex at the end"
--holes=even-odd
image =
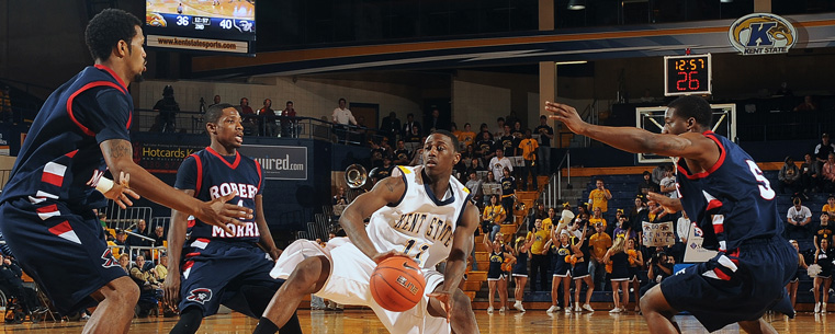
{"type": "MultiPolygon", "coordinates": [[[[187,196],[194,196],[193,189],[181,191],[187,196]]],[[[168,224],[168,276],[162,284],[163,298],[169,306],[180,302],[180,256],[185,243],[187,220],[189,215],[171,210],[171,222],[168,224]]]]}

